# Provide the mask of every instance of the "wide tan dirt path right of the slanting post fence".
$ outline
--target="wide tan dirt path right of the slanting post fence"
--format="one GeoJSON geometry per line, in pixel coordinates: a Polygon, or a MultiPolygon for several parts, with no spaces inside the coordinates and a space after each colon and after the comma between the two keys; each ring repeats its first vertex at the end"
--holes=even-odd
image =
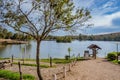
{"type": "Polygon", "coordinates": [[[120,66],[105,59],[78,62],[66,80],[120,80],[120,66]]]}

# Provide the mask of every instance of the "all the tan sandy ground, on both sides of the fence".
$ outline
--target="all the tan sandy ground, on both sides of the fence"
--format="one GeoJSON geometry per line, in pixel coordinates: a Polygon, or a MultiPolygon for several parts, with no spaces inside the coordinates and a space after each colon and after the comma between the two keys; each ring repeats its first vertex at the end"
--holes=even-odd
{"type": "MultiPolygon", "coordinates": [[[[58,70],[61,71],[63,66],[66,65],[57,65],[55,68],[41,69],[44,80],[52,80],[52,74],[58,70]]],[[[18,72],[17,65],[6,69],[18,72]]],[[[34,75],[36,80],[38,80],[36,67],[22,66],[22,72],[34,75]]],[[[71,68],[70,72],[67,72],[65,80],[120,80],[120,65],[115,65],[105,59],[79,61],[71,68]]]]}

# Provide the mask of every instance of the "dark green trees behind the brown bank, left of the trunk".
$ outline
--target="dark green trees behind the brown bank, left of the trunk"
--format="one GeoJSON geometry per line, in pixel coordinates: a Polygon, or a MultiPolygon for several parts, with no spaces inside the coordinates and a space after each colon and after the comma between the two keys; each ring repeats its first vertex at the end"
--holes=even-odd
{"type": "Polygon", "coordinates": [[[25,35],[23,33],[13,33],[5,28],[0,27],[0,39],[14,39],[14,40],[26,41],[26,40],[30,40],[31,36],[25,35]]]}

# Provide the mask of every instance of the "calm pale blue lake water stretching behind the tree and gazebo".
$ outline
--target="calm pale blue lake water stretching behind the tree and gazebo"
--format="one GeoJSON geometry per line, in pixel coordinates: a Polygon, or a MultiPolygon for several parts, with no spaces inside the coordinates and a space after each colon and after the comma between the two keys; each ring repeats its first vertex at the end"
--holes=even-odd
{"type": "MultiPolygon", "coordinates": [[[[89,50],[87,47],[91,44],[97,44],[101,47],[101,50],[98,50],[98,57],[105,57],[107,53],[112,51],[117,51],[117,46],[115,42],[110,41],[72,41],[71,43],[56,43],[56,41],[43,41],[40,46],[40,56],[41,58],[48,58],[49,56],[54,58],[64,58],[65,55],[68,55],[68,48],[71,48],[70,54],[75,56],[80,53],[80,56],[83,56],[85,50],[89,50]]],[[[120,47],[118,47],[120,50],[120,47]]],[[[89,50],[92,53],[91,50],[89,50]]],[[[16,58],[35,58],[36,57],[36,42],[31,41],[29,45],[0,45],[0,57],[8,58],[11,55],[14,55],[16,58]]]]}

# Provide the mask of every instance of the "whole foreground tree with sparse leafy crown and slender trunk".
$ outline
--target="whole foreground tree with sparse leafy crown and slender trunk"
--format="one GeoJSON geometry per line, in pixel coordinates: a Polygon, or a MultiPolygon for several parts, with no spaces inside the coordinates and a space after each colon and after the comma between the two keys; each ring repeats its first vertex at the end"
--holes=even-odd
{"type": "Polygon", "coordinates": [[[91,18],[87,9],[76,9],[72,0],[2,0],[2,3],[1,22],[32,36],[37,42],[39,80],[43,80],[39,62],[41,41],[58,30],[74,32],[91,18]]]}

